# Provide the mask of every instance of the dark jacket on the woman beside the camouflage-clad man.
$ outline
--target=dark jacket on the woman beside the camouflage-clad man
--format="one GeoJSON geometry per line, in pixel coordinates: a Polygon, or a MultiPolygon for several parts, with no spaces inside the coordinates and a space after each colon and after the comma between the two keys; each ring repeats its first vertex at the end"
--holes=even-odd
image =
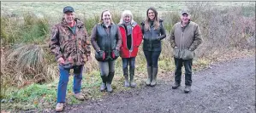
{"type": "Polygon", "coordinates": [[[118,26],[111,24],[106,27],[99,23],[94,25],[91,35],[92,47],[98,51],[104,51],[106,56],[104,60],[111,60],[111,52],[113,50],[120,50],[122,38],[118,26]]]}

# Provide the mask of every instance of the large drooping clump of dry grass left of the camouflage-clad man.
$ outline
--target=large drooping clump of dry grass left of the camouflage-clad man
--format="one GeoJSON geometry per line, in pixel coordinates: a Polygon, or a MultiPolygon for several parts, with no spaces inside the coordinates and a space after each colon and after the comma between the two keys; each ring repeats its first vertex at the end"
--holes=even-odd
{"type": "Polygon", "coordinates": [[[46,63],[44,47],[19,44],[3,56],[3,78],[11,78],[11,84],[19,87],[27,82],[50,82],[56,79],[57,68],[46,63]]]}

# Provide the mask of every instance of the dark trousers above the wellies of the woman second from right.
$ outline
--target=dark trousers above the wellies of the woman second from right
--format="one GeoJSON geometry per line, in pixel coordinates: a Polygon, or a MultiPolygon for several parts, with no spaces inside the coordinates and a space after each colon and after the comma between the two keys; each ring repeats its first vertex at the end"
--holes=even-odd
{"type": "Polygon", "coordinates": [[[158,58],[161,54],[161,51],[143,51],[146,57],[147,66],[152,66],[158,68],[158,58]]]}

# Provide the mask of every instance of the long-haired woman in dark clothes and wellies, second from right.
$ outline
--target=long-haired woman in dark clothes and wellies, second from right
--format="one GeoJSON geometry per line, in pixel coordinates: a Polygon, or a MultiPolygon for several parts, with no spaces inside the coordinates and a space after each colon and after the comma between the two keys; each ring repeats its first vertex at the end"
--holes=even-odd
{"type": "Polygon", "coordinates": [[[154,87],[158,75],[158,58],[161,53],[161,40],[166,37],[163,20],[158,18],[155,8],[146,10],[146,20],[141,23],[143,33],[143,52],[146,56],[147,73],[146,85],[154,87]]]}

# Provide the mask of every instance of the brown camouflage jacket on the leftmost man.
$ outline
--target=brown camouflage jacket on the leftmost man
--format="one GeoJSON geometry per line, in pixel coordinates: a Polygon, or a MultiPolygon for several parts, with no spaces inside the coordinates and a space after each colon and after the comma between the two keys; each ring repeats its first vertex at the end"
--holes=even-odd
{"type": "Polygon", "coordinates": [[[86,56],[91,54],[86,27],[79,19],[75,19],[75,22],[75,33],[64,19],[51,28],[51,53],[55,54],[56,59],[63,57],[64,65],[84,65],[86,56]]]}

